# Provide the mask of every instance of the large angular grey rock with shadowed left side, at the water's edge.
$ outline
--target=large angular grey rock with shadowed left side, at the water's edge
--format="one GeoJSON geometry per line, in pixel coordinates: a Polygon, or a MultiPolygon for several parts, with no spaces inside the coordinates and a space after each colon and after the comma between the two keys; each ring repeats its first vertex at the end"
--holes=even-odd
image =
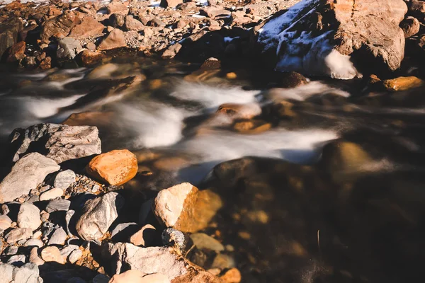
{"type": "Polygon", "coordinates": [[[14,129],[11,137],[11,144],[17,149],[13,161],[18,161],[28,151],[47,151],[46,156],[57,163],[101,154],[97,127],[40,124],[14,129]]]}

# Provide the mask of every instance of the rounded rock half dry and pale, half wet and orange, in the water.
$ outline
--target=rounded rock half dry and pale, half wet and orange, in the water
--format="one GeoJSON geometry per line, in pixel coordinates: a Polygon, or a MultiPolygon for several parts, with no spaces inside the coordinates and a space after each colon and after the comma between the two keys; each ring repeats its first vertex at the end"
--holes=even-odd
{"type": "Polygon", "coordinates": [[[214,192],[181,183],[159,192],[152,211],[164,226],[195,233],[208,226],[221,207],[222,200],[214,192]]]}

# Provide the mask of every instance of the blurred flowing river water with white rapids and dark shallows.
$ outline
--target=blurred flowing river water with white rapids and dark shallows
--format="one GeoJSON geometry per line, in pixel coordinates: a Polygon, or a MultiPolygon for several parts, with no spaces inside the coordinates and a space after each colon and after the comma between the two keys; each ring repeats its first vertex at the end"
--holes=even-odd
{"type": "Polygon", "coordinates": [[[205,232],[233,247],[242,282],[419,282],[423,89],[280,86],[258,69],[135,57],[3,71],[0,138],[42,122],[96,125],[103,152],[137,155],[129,190],[217,188],[225,207],[205,232]]]}

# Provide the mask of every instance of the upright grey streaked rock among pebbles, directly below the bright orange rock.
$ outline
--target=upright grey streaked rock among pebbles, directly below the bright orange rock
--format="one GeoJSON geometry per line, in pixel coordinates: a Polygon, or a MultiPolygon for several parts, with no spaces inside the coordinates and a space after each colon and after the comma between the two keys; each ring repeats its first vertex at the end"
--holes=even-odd
{"type": "Polygon", "coordinates": [[[118,209],[124,204],[124,198],[116,192],[88,200],[83,213],[77,221],[77,232],[86,241],[98,241],[118,217],[118,209]]]}

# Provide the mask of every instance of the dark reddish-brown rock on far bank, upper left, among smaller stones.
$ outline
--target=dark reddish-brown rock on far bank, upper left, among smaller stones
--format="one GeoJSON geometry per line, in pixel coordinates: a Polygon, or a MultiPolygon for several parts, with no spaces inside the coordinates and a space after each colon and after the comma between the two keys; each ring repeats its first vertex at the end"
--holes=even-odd
{"type": "Polygon", "coordinates": [[[61,16],[51,18],[42,24],[41,40],[50,40],[50,37],[62,34],[67,36],[72,28],[78,23],[78,18],[72,11],[63,13],[61,16]]]}

